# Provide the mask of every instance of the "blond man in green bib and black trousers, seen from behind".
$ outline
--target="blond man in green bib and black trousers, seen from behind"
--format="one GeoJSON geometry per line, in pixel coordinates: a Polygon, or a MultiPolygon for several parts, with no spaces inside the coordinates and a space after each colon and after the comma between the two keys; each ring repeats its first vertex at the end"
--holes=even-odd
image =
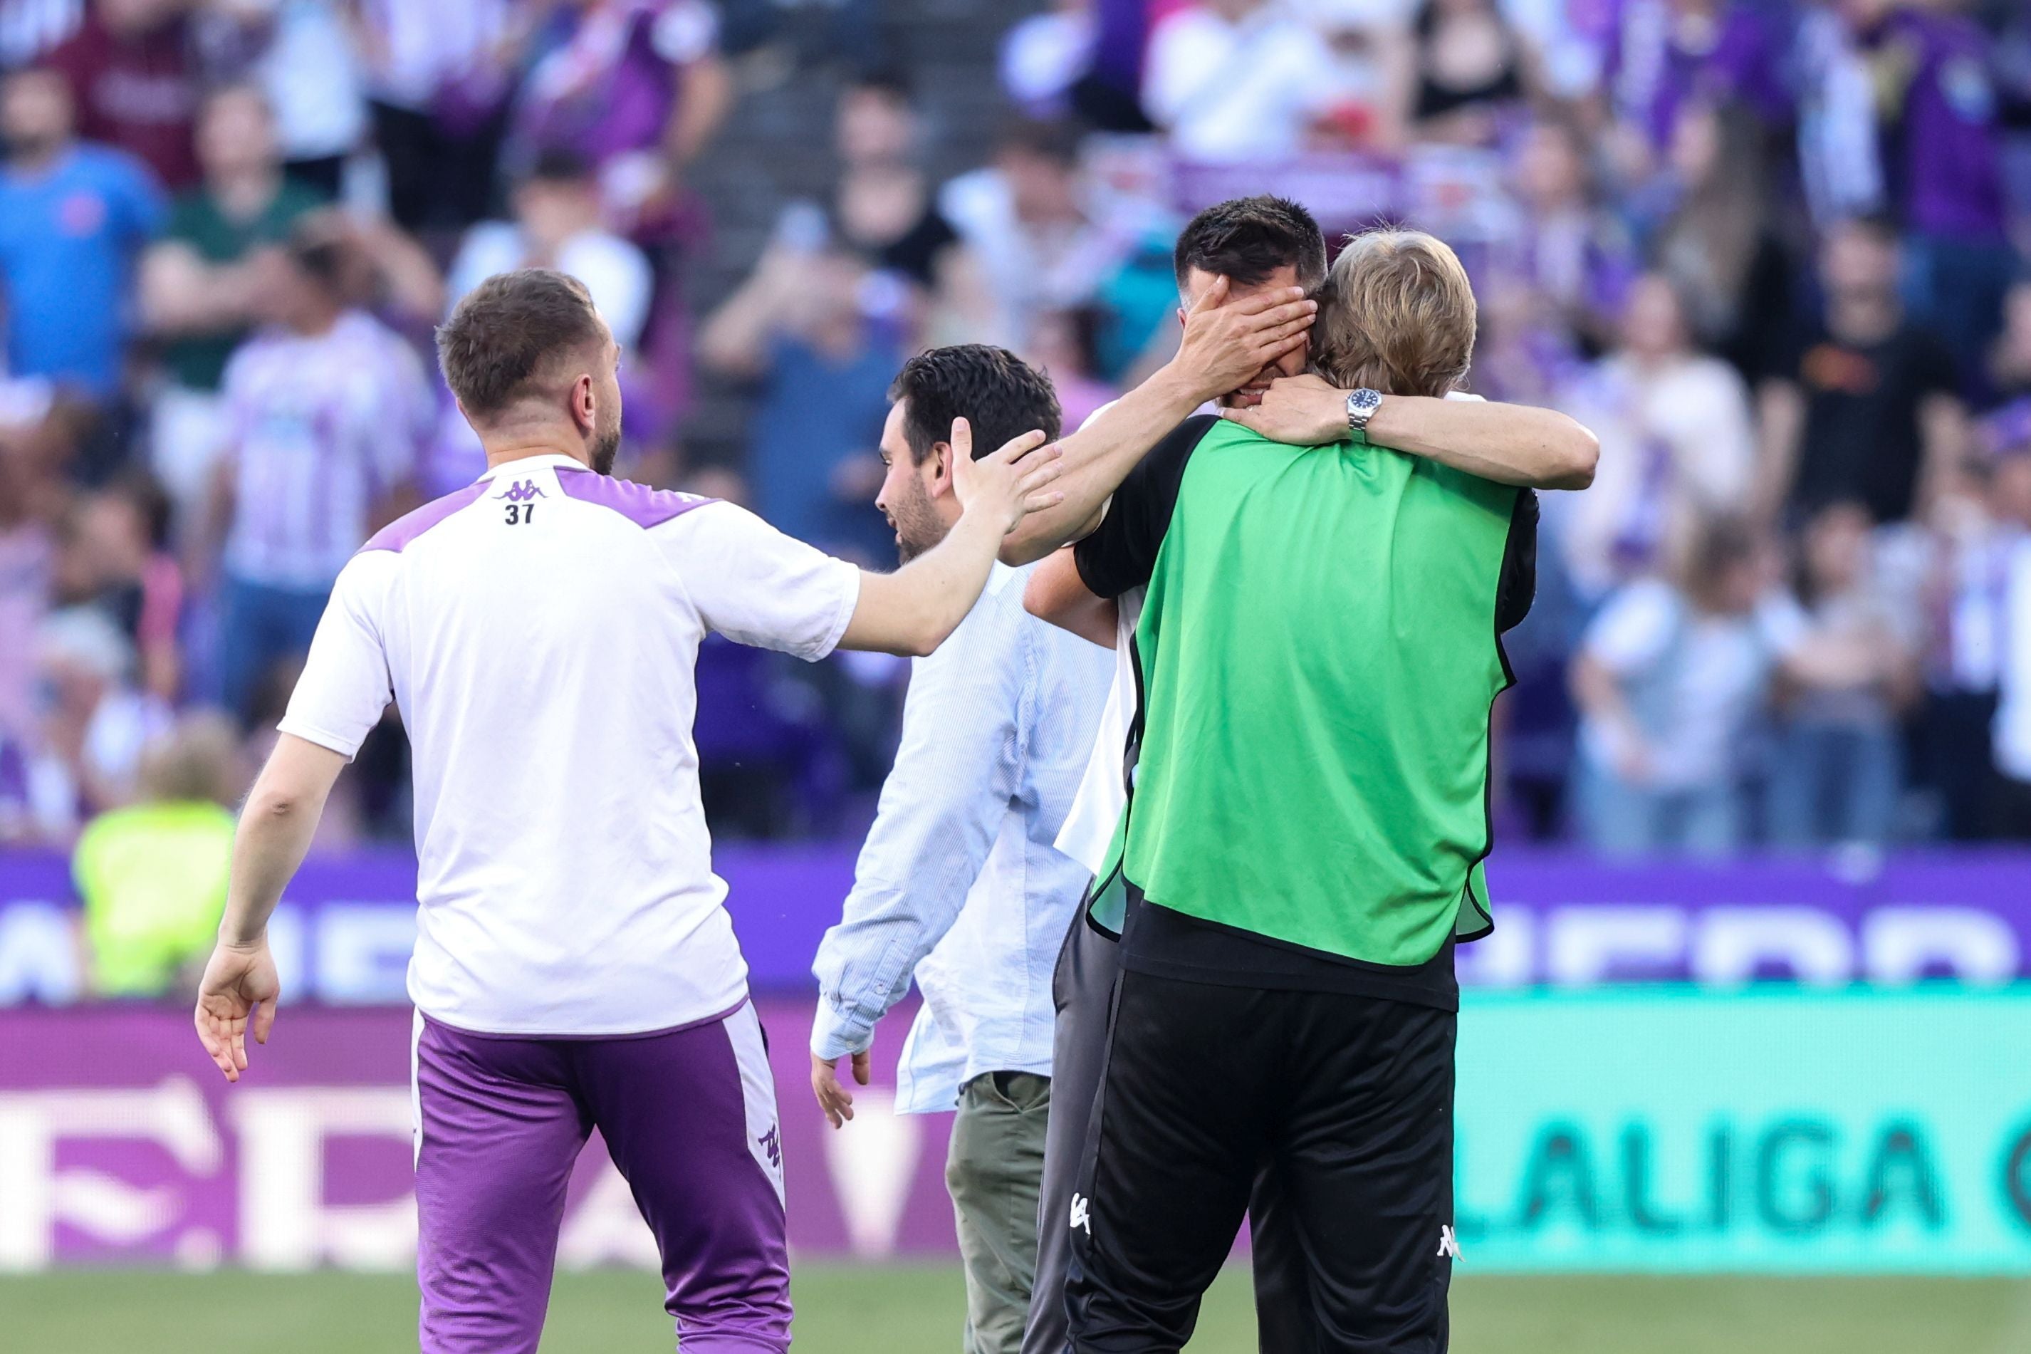
{"type": "MultiPolygon", "coordinates": [[[[1320,376],[1186,420],[1074,550],[1093,595],[1148,589],[1129,806],[1091,911],[1123,974],[1070,1216],[1080,1352],[1190,1338],[1265,1163],[1314,1348],[1446,1348],[1452,948],[1491,928],[1523,485],[1584,487],[1594,451],[1574,428],[1519,473],[1387,449],[1416,426],[1391,404],[1452,394],[1472,353],[1472,288],[1438,240],[1355,238],[1318,300],[1320,376]]],[[[1515,414],[1489,414],[1513,443],[1515,414]]],[[[1066,445],[1068,514],[1127,461],[1097,430],[1066,445]]]]}

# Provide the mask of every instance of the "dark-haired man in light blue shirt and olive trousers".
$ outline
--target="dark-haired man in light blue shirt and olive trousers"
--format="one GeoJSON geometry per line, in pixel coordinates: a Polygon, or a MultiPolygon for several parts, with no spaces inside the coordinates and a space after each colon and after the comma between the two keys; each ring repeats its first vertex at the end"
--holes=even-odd
{"type": "MultiPolygon", "coordinates": [[[[1058,436],[1050,380],[997,347],[912,357],[881,434],[877,505],[904,560],[959,516],[955,416],[975,447],[1058,436]]],[[[839,926],[812,970],[812,1090],[853,1116],[837,1076],[867,1082],[875,1021],[910,991],[924,1007],[898,1070],[898,1108],[957,1108],[946,1186],[967,1265],[969,1354],[1016,1354],[1036,1269],[1050,1114],[1052,966],[1089,871],[1052,844],[1093,751],[1113,676],[1107,650],[1024,611],[1028,568],[997,564],[951,639],[914,660],[902,747],[839,926]]]]}

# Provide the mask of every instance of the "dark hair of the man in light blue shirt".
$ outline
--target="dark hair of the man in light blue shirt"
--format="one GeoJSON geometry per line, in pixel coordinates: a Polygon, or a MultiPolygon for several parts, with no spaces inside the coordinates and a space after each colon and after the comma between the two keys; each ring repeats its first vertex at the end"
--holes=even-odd
{"type": "Polygon", "coordinates": [[[1050,378],[989,343],[934,347],[902,363],[890,400],[904,402],[902,434],[922,463],[932,443],[953,441],[953,420],[973,424],[973,459],[1042,428],[1058,436],[1062,414],[1050,378]]]}

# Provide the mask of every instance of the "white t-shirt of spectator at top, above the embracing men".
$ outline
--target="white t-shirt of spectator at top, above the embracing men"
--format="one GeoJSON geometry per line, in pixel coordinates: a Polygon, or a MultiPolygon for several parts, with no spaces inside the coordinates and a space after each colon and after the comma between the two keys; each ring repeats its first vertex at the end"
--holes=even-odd
{"type": "Polygon", "coordinates": [[[1192,160],[1296,154],[1338,93],[1332,49],[1277,0],[1239,20],[1194,4],[1150,35],[1143,108],[1192,160]]]}

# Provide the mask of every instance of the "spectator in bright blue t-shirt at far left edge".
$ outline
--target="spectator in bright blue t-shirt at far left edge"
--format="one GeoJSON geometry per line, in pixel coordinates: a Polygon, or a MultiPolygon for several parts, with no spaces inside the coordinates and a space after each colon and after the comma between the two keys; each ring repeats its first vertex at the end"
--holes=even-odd
{"type": "Polygon", "coordinates": [[[63,75],[0,83],[0,315],[6,367],[104,400],[120,386],[134,260],[167,203],[148,168],[73,136],[63,75]]]}

